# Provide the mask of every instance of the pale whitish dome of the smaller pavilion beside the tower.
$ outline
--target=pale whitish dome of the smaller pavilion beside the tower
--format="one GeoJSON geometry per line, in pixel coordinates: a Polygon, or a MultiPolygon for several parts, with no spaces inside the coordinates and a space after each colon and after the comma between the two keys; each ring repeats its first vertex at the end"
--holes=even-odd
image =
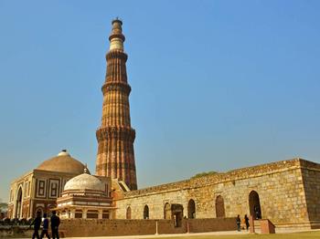
{"type": "Polygon", "coordinates": [[[64,186],[64,191],[95,191],[104,192],[104,183],[95,176],[85,172],[70,179],[64,186]]]}

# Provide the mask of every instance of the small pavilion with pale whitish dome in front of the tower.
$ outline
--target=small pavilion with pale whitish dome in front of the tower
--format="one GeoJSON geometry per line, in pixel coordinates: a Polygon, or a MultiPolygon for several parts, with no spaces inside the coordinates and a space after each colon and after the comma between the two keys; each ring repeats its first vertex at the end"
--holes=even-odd
{"type": "Polygon", "coordinates": [[[57,200],[59,216],[63,218],[111,219],[111,178],[93,176],[84,172],[70,179],[57,200]]]}

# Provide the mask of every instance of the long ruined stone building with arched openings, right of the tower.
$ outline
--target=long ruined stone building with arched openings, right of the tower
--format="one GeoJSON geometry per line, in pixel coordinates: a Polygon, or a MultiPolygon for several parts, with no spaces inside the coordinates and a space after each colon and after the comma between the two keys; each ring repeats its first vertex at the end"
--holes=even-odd
{"type": "Polygon", "coordinates": [[[177,224],[182,217],[251,214],[277,228],[320,227],[320,164],[302,159],[117,191],[118,219],[173,219],[177,224]]]}

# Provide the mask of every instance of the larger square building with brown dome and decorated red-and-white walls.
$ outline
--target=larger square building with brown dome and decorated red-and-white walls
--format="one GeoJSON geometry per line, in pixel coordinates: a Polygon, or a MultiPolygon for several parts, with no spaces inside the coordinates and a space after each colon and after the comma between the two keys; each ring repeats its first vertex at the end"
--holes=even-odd
{"type": "Polygon", "coordinates": [[[66,182],[85,168],[66,150],[43,161],[36,169],[11,182],[8,217],[29,218],[34,217],[37,211],[48,213],[49,209],[57,206],[57,198],[61,196],[66,182]]]}

